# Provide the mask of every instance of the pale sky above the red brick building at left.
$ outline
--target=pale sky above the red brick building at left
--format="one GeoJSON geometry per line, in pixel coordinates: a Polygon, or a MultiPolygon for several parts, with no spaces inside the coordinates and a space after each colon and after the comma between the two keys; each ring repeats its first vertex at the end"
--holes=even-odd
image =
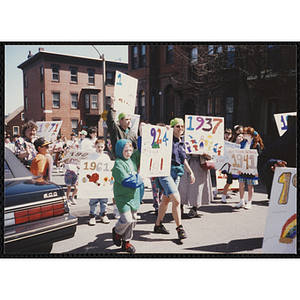
{"type": "MultiPolygon", "coordinates": [[[[105,60],[128,62],[128,46],[126,45],[94,45],[105,60]]],[[[23,71],[18,68],[27,60],[29,50],[32,55],[39,51],[62,54],[79,55],[99,58],[99,54],[92,45],[5,45],[5,115],[12,113],[23,104],[23,71]]]]}

